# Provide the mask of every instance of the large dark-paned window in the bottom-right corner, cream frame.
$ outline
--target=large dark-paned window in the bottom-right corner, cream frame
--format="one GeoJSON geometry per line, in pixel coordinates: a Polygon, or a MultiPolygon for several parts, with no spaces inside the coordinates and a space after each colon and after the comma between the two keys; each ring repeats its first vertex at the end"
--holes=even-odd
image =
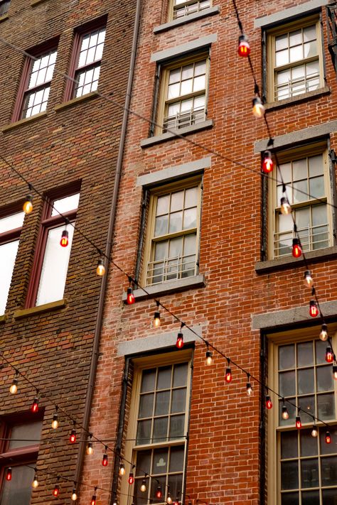
{"type": "Polygon", "coordinates": [[[273,440],[268,442],[271,505],[336,504],[337,425],[333,423],[336,423],[337,384],[331,364],[325,361],[326,344],[302,332],[296,340],[288,335],[270,345],[269,370],[274,370],[274,377],[269,381],[274,380],[276,390],[285,400],[303,409],[299,413],[300,430],[295,428],[295,408],[287,401],[288,420],[281,416],[282,400],[269,411],[268,424],[272,422],[268,429],[273,440]],[[326,425],[318,420],[314,423],[311,415],[329,424],[331,444],[325,441],[326,425]],[[318,427],[316,438],[311,435],[314,424],[318,427]]]}

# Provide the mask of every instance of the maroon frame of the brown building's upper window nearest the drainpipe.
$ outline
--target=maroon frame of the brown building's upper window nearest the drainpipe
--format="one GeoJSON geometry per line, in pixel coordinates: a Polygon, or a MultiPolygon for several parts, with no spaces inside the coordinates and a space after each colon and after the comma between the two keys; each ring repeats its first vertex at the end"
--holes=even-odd
{"type": "MultiPolygon", "coordinates": [[[[80,58],[80,49],[81,49],[81,43],[82,43],[82,38],[92,31],[100,30],[100,28],[105,28],[107,29],[107,16],[104,16],[103,18],[96,19],[95,21],[91,21],[90,23],[86,23],[84,26],[80,26],[80,28],[77,28],[77,30],[74,32],[73,36],[73,50],[71,53],[71,58],[70,58],[70,65],[69,65],[69,73],[68,75],[71,77],[71,79],[67,79],[65,83],[65,94],[63,97],[63,102],[68,102],[71,99],[75,99],[76,97],[74,96],[75,92],[75,75],[77,70],[82,70],[85,69],[86,67],[94,67],[97,66],[97,64],[100,64],[100,67],[102,67],[102,58],[101,60],[97,60],[95,63],[89,63],[88,65],[84,65],[83,67],[77,67],[78,60],[80,58]]],[[[106,37],[105,37],[105,43],[106,43],[106,37]]],[[[104,44],[105,44],[104,43],[104,44]]],[[[104,48],[103,48],[104,50],[104,48]]],[[[98,83],[97,83],[98,86],[98,83]]],[[[80,97],[85,97],[87,93],[80,95],[80,97]]],[[[80,98],[78,97],[78,98],[80,98]]]]}

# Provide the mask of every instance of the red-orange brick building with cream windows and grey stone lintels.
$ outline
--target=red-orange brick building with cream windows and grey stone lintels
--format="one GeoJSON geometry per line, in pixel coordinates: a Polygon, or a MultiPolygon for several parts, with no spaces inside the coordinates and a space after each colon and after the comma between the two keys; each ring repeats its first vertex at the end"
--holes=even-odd
{"type": "Polygon", "coordinates": [[[142,2],[112,259],[148,294],[134,286],[127,305],[127,278],[110,270],[90,418],[109,465],[95,445],[82,476],[107,490],[102,504],[336,505],[336,381],[325,360],[337,314],[336,4],[237,9],[258,89],[237,55],[232,2],[142,2]],[[255,92],[270,132],[252,115],[255,92]],[[262,176],[269,136],[279,167],[262,176]],[[306,270],[328,342],[309,315],[306,270]],[[153,298],[195,332],[181,329],[183,349],[180,322],[160,306],[154,327],[153,298]],[[206,366],[196,334],[229,364],[210,347],[206,366]]]}

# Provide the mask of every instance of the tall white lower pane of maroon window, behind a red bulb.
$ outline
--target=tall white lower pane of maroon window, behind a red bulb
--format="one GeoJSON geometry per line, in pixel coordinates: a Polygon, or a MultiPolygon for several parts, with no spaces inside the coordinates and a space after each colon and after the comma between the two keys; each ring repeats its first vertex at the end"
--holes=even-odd
{"type": "Polygon", "coordinates": [[[60,246],[64,225],[50,229],[46,243],[36,305],[61,300],[65,290],[68,263],[73,242],[73,226],[68,226],[68,247],[60,246]]]}

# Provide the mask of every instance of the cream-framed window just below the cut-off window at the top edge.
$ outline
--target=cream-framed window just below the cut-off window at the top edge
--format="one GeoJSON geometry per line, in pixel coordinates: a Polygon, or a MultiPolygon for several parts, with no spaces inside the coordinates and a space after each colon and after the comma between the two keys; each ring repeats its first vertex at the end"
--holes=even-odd
{"type": "Polygon", "coordinates": [[[158,123],[162,131],[198,124],[206,119],[208,54],[164,67],[158,123]]]}

